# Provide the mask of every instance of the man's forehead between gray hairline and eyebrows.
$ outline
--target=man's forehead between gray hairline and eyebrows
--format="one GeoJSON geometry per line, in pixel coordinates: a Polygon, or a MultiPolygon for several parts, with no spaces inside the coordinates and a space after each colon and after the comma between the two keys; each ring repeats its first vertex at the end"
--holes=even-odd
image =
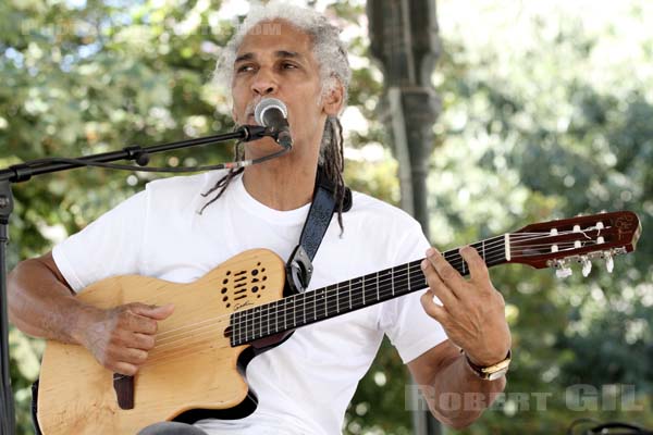
{"type": "Polygon", "coordinates": [[[281,21],[263,21],[256,24],[243,38],[236,58],[251,53],[295,52],[311,58],[312,38],[306,32],[281,21]]]}

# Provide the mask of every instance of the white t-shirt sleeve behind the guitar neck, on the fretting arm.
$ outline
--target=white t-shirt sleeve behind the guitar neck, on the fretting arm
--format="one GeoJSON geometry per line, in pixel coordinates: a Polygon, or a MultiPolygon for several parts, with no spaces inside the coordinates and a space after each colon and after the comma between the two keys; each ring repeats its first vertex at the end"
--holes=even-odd
{"type": "MultiPolygon", "coordinates": [[[[420,225],[414,222],[398,245],[396,264],[424,258],[429,247],[420,225]]],[[[381,328],[404,363],[412,361],[447,338],[442,325],[422,308],[422,294],[423,291],[418,290],[393,299],[383,303],[381,310],[381,328]]]]}

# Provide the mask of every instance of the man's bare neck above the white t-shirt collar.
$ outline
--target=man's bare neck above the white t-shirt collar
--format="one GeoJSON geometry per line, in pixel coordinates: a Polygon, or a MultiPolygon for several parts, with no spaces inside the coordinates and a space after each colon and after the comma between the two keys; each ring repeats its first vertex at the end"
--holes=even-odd
{"type": "Polygon", "coordinates": [[[309,203],[318,171],[317,157],[297,158],[293,151],[246,167],[243,184],[247,192],[274,210],[295,210],[309,203]]]}

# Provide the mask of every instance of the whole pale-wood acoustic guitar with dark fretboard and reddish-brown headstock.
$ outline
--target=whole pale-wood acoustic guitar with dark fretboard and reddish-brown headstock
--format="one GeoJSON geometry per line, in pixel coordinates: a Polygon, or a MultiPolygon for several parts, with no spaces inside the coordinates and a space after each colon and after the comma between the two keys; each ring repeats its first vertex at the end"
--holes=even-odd
{"type": "MultiPolygon", "coordinates": [[[[587,275],[594,259],[612,271],[613,257],[634,250],[640,233],[638,216],[620,211],[532,224],[472,246],[488,266],[521,263],[566,276],[578,262],[587,275]]],[[[468,274],[458,249],[444,258],[468,274]]],[[[190,284],[132,275],[98,282],[78,298],[102,309],[172,302],[175,311],[159,322],[156,346],[135,376],[111,373],[82,346],[48,341],[37,396],[40,430],[135,434],[159,421],[246,417],[257,406],[245,377],[254,357],[298,327],[426,288],[420,261],[293,295],[284,261],[266,249],[233,257],[190,284]]]]}

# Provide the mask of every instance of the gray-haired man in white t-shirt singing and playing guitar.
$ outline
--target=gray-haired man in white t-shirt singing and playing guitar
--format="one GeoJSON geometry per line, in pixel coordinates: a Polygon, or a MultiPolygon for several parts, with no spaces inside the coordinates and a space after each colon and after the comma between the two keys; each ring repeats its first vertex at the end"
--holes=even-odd
{"type": "MultiPolygon", "coordinates": [[[[149,183],[52,252],[20,263],[9,283],[11,321],[32,336],[82,345],[107,370],[137,376],[156,345],[157,323],[174,316],[174,307],[101,310],[75,294],[125,274],[189,283],[252,248],[286,260],[299,240],[320,166],[335,186],[337,207],[308,291],[424,252],[429,288],[299,328],[255,358],[247,369],[259,399],[252,414],[194,425],[161,422],[140,434],[341,433],[384,334],[435,418],[453,427],[472,423],[506,383],[510,332],[504,300],[475,249],[460,251],[470,271],[464,279],[402,210],[359,192],[348,210],[343,207],[338,115],[350,70],[338,29],[312,10],[279,2],[252,8],[225,47],[217,77],[231,84],[236,124],[254,124],[262,99],[283,101],[292,151],[244,170],[149,183]],[[476,394],[483,405],[443,406],[445,393],[476,394]]],[[[236,154],[256,159],[278,150],[273,139],[263,138],[241,145],[236,154]]]]}

